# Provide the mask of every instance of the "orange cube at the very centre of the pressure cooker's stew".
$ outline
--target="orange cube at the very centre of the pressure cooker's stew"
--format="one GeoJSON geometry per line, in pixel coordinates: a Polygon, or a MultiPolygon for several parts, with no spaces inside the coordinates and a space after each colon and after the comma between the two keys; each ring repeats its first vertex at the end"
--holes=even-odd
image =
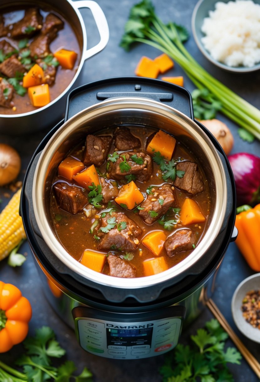
{"type": "Polygon", "coordinates": [[[115,198],[115,202],[119,204],[119,206],[127,208],[128,210],[132,210],[143,200],[144,196],[133,180],[127,183],[127,185],[122,186],[119,195],[115,198]]]}

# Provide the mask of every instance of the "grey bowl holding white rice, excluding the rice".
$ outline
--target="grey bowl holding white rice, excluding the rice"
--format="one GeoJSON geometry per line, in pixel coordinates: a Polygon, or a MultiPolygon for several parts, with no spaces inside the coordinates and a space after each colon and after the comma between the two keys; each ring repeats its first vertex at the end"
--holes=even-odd
{"type": "MultiPolygon", "coordinates": [[[[215,4],[218,1],[228,3],[230,0],[199,0],[199,2],[197,2],[193,10],[193,15],[191,18],[191,27],[194,40],[199,50],[210,62],[212,62],[214,65],[218,66],[221,69],[236,73],[248,73],[255,70],[259,70],[260,63],[257,63],[256,65],[251,67],[225,65],[224,63],[215,60],[202,44],[201,39],[205,36],[204,33],[201,31],[203,20],[205,17],[209,16],[209,11],[215,10],[215,4]]],[[[254,0],[254,3],[260,4],[260,0],[254,0]]]]}

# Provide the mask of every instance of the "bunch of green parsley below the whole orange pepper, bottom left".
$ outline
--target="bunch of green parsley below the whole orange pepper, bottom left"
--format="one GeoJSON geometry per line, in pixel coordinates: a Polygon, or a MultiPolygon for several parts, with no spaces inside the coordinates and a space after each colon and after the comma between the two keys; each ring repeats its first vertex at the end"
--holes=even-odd
{"type": "Polygon", "coordinates": [[[25,352],[16,361],[23,372],[13,369],[0,361],[0,380],[12,382],[92,382],[92,373],[85,367],[79,376],[73,373],[77,369],[74,362],[65,361],[53,366],[53,358],[61,358],[66,353],[55,339],[50,327],[43,326],[35,330],[34,337],[23,342],[25,352]]]}

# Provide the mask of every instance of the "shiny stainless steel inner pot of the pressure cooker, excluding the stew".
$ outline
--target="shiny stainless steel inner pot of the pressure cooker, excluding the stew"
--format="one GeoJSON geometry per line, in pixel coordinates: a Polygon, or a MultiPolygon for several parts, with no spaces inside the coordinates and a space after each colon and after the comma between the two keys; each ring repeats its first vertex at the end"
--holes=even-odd
{"type": "Polygon", "coordinates": [[[100,102],[67,120],[51,136],[40,155],[32,186],[32,207],[39,234],[51,252],[74,277],[79,275],[81,280],[91,280],[99,285],[135,289],[178,279],[189,272],[192,274],[196,263],[203,261],[204,254],[210,250],[218,235],[225,229],[225,223],[230,215],[227,207],[227,195],[230,190],[227,188],[222,159],[207,134],[191,118],[168,105],[143,97],[115,97],[100,102]],[[87,134],[99,131],[104,133],[106,129],[120,124],[147,125],[173,134],[193,153],[209,181],[211,211],[207,221],[207,231],[202,240],[179,264],[149,277],[117,278],[88,269],[67,253],[57,239],[50,220],[50,190],[54,173],[61,160],[87,134]]]}

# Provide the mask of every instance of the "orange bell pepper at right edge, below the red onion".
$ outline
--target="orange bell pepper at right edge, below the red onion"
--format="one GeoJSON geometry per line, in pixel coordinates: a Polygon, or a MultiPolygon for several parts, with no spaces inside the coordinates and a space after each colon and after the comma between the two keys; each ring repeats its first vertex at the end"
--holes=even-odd
{"type": "Polygon", "coordinates": [[[238,236],[236,245],[246,259],[248,265],[260,272],[260,204],[236,215],[238,236]]]}

